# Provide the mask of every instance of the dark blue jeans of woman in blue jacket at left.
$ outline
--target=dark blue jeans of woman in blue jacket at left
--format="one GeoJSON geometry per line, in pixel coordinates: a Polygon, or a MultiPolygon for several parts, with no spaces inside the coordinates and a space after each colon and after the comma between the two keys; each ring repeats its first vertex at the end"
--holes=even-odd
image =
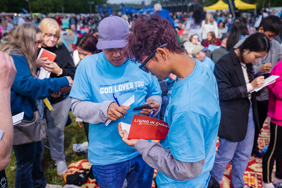
{"type": "Polygon", "coordinates": [[[41,141],[13,146],[17,168],[15,187],[44,188],[47,184],[41,169],[41,141]]]}

